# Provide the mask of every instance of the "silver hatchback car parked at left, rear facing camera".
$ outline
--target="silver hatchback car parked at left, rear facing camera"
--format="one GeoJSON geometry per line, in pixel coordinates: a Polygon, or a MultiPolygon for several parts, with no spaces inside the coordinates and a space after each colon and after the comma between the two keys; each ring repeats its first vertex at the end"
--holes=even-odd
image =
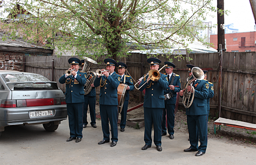
{"type": "Polygon", "coordinates": [[[57,82],[40,74],[0,71],[0,134],[20,124],[43,124],[46,131],[55,131],[65,119],[65,96],[57,82]]]}

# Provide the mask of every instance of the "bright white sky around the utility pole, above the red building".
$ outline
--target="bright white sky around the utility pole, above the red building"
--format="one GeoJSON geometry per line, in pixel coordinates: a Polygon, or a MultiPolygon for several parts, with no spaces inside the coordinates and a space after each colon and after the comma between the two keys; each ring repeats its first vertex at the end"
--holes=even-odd
{"type": "MultiPolygon", "coordinates": [[[[217,8],[217,0],[212,0],[213,6],[217,8]]],[[[224,24],[234,24],[233,28],[238,29],[238,32],[256,31],[255,20],[249,0],[224,0],[224,10],[229,10],[230,13],[224,16],[224,24]]],[[[209,17],[207,22],[212,21],[212,24],[217,24],[217,13],[214,18],[209,17]]],[[[213,29],[217,34],[217,28],[213,29]]]]}

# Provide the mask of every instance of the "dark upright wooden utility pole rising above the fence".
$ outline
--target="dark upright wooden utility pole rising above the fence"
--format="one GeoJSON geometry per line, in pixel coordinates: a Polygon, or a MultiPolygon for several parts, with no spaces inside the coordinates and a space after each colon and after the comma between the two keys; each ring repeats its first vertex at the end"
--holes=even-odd
{"type": "MultiPolygon", "coordinates": [[[[224,11],[224,0],[217,0],[217,8],[218,10],[224,11]]],[[[226,51],[225,45],[225,25],[224,25],[224,14],[221,12],[217,12],[217,20],[218,20],[218,46],[222,45],[222,51],[226,51]]],[[[218,47],[218,52],[220,52],[220,47],[218,47]]]]}

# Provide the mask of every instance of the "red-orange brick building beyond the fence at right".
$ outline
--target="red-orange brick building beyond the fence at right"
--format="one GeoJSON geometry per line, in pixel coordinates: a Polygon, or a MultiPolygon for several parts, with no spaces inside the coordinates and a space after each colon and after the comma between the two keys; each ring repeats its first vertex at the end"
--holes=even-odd
{"type": "MultiPolygon", "coordinates": [[[[210,42],[213,44],[212,48],[218,49],[218,34],[211,35],[210,42]]],[[[229,52],[256,51],[256,32],[227,33],[225,42],[226,51],[229,52]]]]}

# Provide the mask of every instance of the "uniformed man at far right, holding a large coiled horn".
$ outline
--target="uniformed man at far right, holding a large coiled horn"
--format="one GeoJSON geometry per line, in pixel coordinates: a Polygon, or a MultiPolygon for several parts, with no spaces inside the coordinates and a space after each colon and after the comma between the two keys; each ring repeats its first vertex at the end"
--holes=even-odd
{"type": "MultiPolygon", "coordinates": [[[[187,64],[189,75],[191,69],[195,66],[187,64]]],[[[186,82],[188,83],[188,82],[186,82]]],[[[194,92],[194,101],[192,105],[186,108],[187,127],[189,133],[190,147],[184,149],[184,152],[198,151],[195,156],[203,156],[207,148],[207,98],[209,95],[209,83],[207,80],[196,80],[187,86],[188,92],[194,92]],[[191,90],[194,87],[194,91],[191,90]],[[198,146],[198,137],[200,146],[198,146]]],[[[180,91],[180,96],[185,97],[184,90],[180,91]]]]}

